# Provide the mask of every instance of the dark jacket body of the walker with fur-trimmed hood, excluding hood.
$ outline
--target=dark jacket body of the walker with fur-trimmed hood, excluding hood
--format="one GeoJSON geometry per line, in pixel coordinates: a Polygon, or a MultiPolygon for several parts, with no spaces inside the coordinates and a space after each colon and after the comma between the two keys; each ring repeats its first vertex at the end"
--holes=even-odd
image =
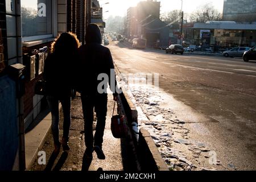
{"type": "Polygon", "coordinates": [[[44,62],[43,78],[46,81],[47,95],[59,99],[71,97],[73,87],[74,57],[51,53],[44,62]]]}

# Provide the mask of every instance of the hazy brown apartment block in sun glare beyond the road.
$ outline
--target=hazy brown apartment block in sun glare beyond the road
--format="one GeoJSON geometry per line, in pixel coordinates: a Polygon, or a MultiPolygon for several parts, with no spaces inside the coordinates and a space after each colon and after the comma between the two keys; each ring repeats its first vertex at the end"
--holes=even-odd
{"type": "Polygon", "coordinates": [[[166,47],[169,43],[170,27],[160,20],[160,1],[141,1],[127,10],[126,37],[145,38],[147,46],[166,47]]]}

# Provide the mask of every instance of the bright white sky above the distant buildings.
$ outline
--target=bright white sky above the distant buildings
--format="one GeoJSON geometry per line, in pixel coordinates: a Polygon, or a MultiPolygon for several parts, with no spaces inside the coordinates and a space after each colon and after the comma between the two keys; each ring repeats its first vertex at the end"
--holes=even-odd
{"type": "MultiPolygon", "coordinates": [[[[142,0],[100,0],[99,2],[104,11],[109,11],[104,13],[104,18],[108,18],[110,15],[125,16],[127,9],[131,6],[136,6],[139,1],[142,0]],[[104,5],[106,2],[109,2],[109,4],[104,5]]],[[[181,9],[181,0],[158,1],[161,2],[161,13],[181,9]]],[[[183,0],[183,11],[184,13],[192,13],[197,7],[205,5],[205,3],[212,3],[222,13],[224,0],[183,0]]]]}

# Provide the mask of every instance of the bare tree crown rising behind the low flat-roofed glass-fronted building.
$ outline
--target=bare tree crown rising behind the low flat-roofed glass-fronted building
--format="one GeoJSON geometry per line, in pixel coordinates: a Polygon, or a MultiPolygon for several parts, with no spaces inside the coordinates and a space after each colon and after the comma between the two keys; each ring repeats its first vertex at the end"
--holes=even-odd
{"type": "Polygon", "coordinates": [[[193,12],[189,18],[190,22],[205,23],[207,21],[221,20],[221,13],[214,9],[213,5],[205,4],[193,12]]]}

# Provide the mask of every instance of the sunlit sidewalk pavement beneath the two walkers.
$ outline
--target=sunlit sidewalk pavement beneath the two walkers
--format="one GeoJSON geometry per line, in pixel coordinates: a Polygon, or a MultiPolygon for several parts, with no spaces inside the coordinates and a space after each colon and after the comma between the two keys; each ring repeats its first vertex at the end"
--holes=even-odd
{"type": "MultiPolygon", "coordinates": [[[[123,171],[126,163],[125,154],[125,144],[121,139],[116,139],[113,137],[110,123],[112,117],[112,111],[114,106],[113,96],[109,94],[108,96],[108,113],[106,118],[106,127],[104,133],[104,143],[102,149],[106,155],[105,160],[99,160],[95,152],[93,152],[92,162],[83,161],[85,143],[84,143],[84,119],[82,114],[82,105],[80,94],[77,94],[74,100],[72,100],[71,105],[71,130],[69,146],[71,150],[63,152],[62,149],[60,154],[56,157],[52,155],[53,151],[53,139],[51,135],[51,130],[46,135],[42,147],[39,151],[46,152],[46,165],[40,165],[38,163],[38,156],[31,164],[28,170],[31,171],[80,171],[82,169],[89,169],[89,171],[103,170],[103,171],[123,171]]],[[[115,109],[115,114],[117,109],[115,109]]],[[[60,139],[63,133],[63,113],[60,112],[60,139]]]]}

